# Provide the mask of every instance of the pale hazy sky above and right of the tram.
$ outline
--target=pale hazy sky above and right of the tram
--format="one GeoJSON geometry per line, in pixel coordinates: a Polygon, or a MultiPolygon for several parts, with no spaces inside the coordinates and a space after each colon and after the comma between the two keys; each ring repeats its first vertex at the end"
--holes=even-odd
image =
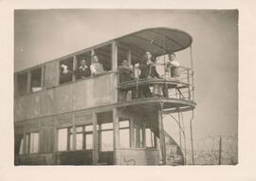
{"type": "MultiPolygon", "coordinates": [[[[193,136],[238,133],[238,12],[236,10],[15,10],[14,70],[60,58],[147,27],[182,29],[192,36],[195,102],[193,136]]],[[[177,53],[185,63],[188,49],[177,53]]],[[[184,115],[188,129],[191,113],[184,115]]],[[[174,122],[165,129],[177,133],[174,122]]]]}

